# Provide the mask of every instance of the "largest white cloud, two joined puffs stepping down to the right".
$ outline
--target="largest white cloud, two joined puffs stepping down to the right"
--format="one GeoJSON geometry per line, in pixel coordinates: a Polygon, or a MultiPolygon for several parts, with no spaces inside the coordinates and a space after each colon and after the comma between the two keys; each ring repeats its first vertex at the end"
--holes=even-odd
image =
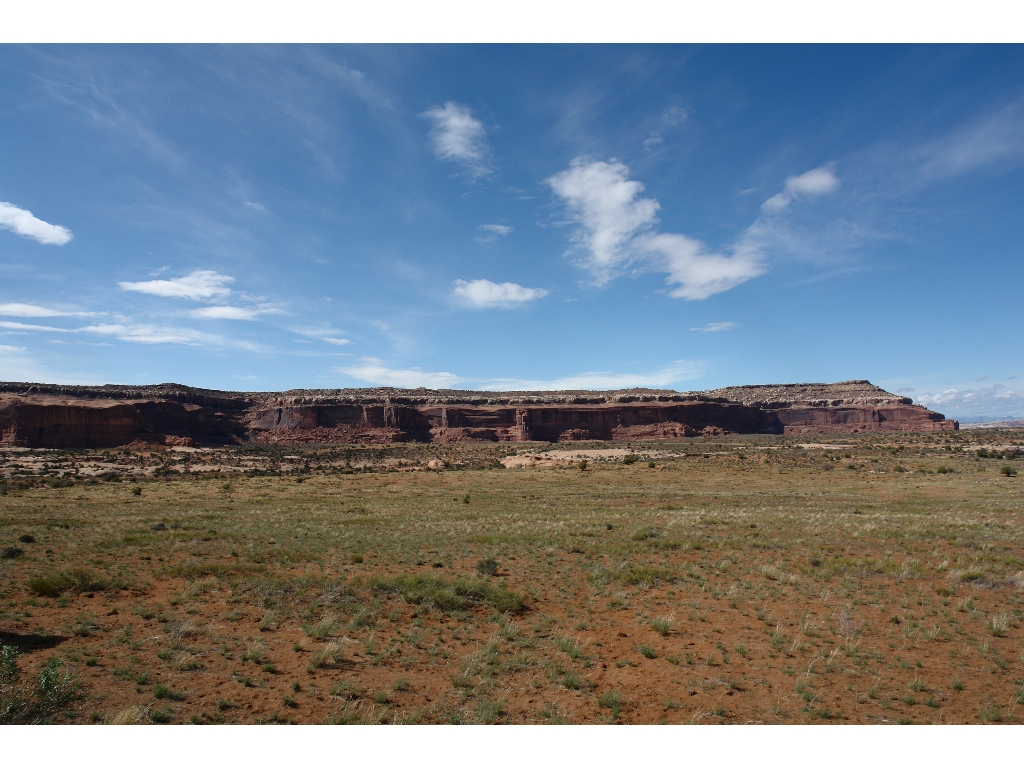
{"type": "Polygon", "coordinates": [[[764,272],[762,252],[740,239],[732,255],[710,253],[699,241],[684,234],[650,233],[660,205],[642,198],[643,184],[629,178],[618,161],[587,163],[577,159],[570,168],[547,179],[581,225],[573,239],[585,251],[578,263],[596,285],[603,285],[628,265],[643,261],[668,272],[674,298],[706,299],[764,272]]]}

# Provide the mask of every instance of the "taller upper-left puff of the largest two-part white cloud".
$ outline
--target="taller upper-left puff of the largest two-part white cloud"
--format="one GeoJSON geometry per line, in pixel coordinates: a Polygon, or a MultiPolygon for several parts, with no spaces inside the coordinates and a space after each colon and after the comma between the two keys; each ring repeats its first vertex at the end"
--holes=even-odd
{"type": "Polygon", "coordinates": [[[657,201],[640,198],[643,184],[629,175],[617,160],[588,163],[577,158],[568,170],[546,179],[581,225],[573,238],[585,249],[579,263],[599,286],[634,259],[632,238],[657,221],[657,201]]]}

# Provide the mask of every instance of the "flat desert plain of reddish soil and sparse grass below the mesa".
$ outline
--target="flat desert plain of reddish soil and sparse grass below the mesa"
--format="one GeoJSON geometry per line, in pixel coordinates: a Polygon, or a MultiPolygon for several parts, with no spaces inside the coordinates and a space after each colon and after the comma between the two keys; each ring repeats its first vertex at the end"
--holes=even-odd
{"type": "Polygon", "coordinates": [[[0,721],[1019,723],[1022,444],[7,451],[0,721]]]}

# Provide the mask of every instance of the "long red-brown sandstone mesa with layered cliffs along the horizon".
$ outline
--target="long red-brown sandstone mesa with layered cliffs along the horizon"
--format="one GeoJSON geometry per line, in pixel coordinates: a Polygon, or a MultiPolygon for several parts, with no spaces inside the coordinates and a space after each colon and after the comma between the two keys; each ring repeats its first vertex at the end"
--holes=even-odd
{"type": "Polygon", "coordinates": [[[218,392],[177,384],[0,384],[0,445],[672,439],[956,429],[866,381],[706,392],[335,389],[218,392]]]}

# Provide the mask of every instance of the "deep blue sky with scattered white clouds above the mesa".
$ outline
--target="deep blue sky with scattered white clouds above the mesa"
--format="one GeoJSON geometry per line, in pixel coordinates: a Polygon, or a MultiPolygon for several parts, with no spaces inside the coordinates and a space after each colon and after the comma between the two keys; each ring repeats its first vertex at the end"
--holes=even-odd
{"type": "Polygon", "coordinates": [[[0,379],[1024,415],[1020,46],[4,46],[0,379]]]}

